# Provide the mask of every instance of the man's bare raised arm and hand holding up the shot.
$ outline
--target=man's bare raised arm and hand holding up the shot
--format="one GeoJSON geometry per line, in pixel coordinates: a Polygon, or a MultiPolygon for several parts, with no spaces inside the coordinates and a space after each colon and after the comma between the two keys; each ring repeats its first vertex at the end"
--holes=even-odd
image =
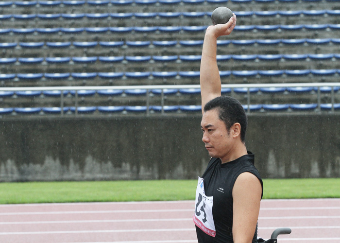
{"type": "Polygon", "coordinates": [[[221,78],[216,60],[217,38],[221,35],[230,35],[235,25],[234,14],[227,23],[211,25],[206,29],[200,68],[202,113],[207,102],[221,96],[221,78]]]}

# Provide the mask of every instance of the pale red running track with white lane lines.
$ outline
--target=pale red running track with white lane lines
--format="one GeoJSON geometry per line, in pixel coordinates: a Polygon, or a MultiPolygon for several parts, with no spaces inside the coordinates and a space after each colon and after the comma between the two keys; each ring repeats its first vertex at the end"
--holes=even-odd
{"type": "MultiPolygon", "coordinates": [[[[197,243],[193,201],[0,205],[0,243],[197,243]]],[[[340,199],[262,200],[258,235],[340,243],[340,199]]]]}

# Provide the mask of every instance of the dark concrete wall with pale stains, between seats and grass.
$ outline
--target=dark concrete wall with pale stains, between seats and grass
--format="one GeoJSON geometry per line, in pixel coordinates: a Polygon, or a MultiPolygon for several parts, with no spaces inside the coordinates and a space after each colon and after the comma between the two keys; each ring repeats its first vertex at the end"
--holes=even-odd
{"type": "MultiPolygon", "coordinates": [[[[251,115],[264,178],[340,177],[339,115],[251,115]]],[[[196,179],[209,156],[200,115],[3,120],[0,181],[196,179]]]]}

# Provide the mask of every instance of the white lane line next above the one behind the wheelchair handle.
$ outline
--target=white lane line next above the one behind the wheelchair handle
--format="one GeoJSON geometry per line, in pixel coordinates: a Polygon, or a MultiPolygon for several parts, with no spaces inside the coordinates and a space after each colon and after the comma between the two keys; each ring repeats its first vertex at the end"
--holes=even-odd
{"type": "MultiPolygon", "coordinates": [[[[339,216],[282,216],[282,217],[259,217],[259,220],[272,219],[339,219],[339,216]]],[[[14,221],[0,222],[0,225],[39,225],[39,224],[91,224],[91,223],[138,223],[138,222],[167,222],[167,221],[192,221],[192,218],[171,219],[108,219],[108,220],[63,220],[63,221],[14,221]]]]}

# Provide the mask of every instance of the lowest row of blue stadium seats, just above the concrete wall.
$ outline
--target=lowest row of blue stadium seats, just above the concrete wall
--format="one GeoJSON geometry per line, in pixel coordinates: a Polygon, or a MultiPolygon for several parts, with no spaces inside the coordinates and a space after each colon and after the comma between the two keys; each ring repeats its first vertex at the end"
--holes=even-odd
{"type": "MultiPolygon", "coordinates": [[[[337,111],[340,110],[340,104],[250,104],[243,105],[246,111],[265,112],[265,111],[337,111]]],[[[201,112],[201,105],[137,105],[137,106],[71,106],[71,107],[6,107],[0,108],[0,115],[32,115],[32,114],[92,114],[94,112],[100,113],[159,113],[159,112],[201,112]]]]}

